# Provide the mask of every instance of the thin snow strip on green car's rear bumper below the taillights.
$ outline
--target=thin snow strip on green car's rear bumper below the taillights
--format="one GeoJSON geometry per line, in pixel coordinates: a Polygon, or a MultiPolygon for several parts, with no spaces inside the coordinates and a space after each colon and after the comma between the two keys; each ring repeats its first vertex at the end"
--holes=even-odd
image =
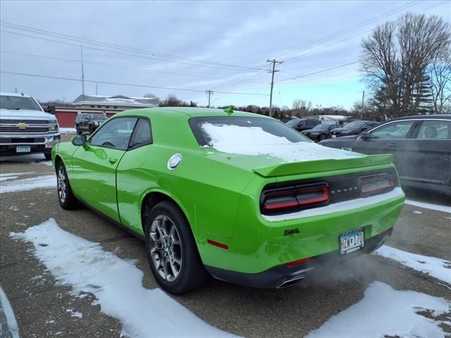
{"type": "Polygon", "coordinates": [[[357,208],[363,208],[364,206],[371,206],[386,202],[389,199],[395,199],[397,197],[404,196],[404,192],[401,188],[395,188],[391,192],[385,194],[379,194],[375,196],[362,197],[360,199],[351,199],[349,201],[338,202],[329,204],[328,206],[320,206],[318,208],[305,209],[297,211],[295,213],[284,213],[283,215],[262,215],[263,218],[270,222],[278,222],[281,220],[295,220],[297,218],[313,217],[318,215],[326,215],[328,213],[339,213],[342,211],[350,211],[357,208]]]}

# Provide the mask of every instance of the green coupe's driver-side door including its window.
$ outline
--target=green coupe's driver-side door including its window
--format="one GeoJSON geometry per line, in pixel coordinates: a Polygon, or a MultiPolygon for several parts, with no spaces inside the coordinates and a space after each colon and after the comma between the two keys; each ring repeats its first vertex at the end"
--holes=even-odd
{"type": "Polygon", "coordinates": [[[73,154],[73,192],[82,201],[120,222],[116,199],[116,168],[128,149],[137,118],[113,118],[73,154]]]}

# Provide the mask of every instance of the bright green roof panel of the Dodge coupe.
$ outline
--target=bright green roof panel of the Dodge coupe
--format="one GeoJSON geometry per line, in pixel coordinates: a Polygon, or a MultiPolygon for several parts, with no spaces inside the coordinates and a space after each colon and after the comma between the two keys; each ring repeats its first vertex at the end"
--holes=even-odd
{"type": "Polygon", "coordinates": [[[156,115],[168,115],[171,116],[185,116],[185,118],[203,118],[212,116],[241,116],[249,118],[269,118],[266,115],[260,115],[255,113],[247,113],[245,111],[233,111],[233,113],[226,113],[223,109],[215,108],[197,108],[197,107],[155,107],[155,108],[142,108],[132,109],[129,111],[122,111],[116,113],[114,116],[126,116],[126,115],[142,115],[151,118],[156,115]]]}

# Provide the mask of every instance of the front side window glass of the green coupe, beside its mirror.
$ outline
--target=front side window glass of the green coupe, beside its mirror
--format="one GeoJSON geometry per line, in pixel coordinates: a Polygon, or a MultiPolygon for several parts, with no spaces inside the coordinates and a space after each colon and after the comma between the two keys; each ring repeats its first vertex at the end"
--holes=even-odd
{"type": "Polygon", "coordinates": [[[89,144],[127,150],[136,121],[137,118],[114,118],[102,125],[89,144]]]}

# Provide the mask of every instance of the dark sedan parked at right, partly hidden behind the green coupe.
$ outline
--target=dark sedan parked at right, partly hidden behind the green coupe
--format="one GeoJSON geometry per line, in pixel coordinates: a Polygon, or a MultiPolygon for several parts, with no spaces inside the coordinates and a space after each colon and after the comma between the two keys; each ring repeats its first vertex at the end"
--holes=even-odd
{"type": "Polygon", "coordinates": [[[451,195],[451,115],[396,118],[358,137],[326,139],[321,145],[393,154],[402,186],[451,195]]]}

